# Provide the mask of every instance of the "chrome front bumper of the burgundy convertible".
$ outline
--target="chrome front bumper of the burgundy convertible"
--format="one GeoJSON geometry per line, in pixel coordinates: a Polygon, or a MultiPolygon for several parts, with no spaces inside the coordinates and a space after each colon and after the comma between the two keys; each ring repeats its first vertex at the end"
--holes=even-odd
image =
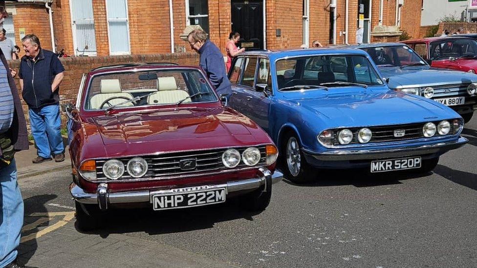
{"type": "MultiPolygon", "coordinates": [[[[282,172],[275,170],[271,174],[270,170],[266,168],[259,169],[259,176],[253,179],[246,179],[240,181],[228,182],[221,185],[211,185],[213,187],[225,187],[227,193],[238,192],[243,190],[258,189],[267,182],[270,178],[272,184],[278,183],[282,180],[282,172]]],[[[150,202],[151,193],[157,193],[157,190],[138,190],[130,192],[109,192],[108,184],[102,183],[98,185],[96,193],[87,193],[80,186],[75,183],[70,185],[70,193],[74,200],[83,204],[98,204],[101,209],[106,209],[108,204],[118,203],[142,203],[150,202]]],[[[266,187],[264,187],[266,190],[266,187]]],[[[167,191],[167,190],[166,190],[167,191]]]]}

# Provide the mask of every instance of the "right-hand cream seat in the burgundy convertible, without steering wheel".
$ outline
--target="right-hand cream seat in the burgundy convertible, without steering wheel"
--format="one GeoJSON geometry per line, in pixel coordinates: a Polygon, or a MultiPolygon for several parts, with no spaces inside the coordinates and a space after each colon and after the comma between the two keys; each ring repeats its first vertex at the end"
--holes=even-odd
{"type": "MultiPolygon", "coordinates": [[[[177,83],[173,76],[157,78],[157,92],[148,97],[149,104],[168,104],[177,103],[189,97],[185,90],[177,89],[177,83]]],[[[187,99],[184,103],[190,103],[187,99]]]]}

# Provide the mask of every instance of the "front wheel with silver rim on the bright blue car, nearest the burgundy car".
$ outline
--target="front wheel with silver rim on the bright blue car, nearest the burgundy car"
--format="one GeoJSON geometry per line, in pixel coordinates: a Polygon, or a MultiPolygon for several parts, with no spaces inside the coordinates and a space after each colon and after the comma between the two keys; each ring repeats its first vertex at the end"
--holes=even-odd
{"type": "Polygon", "coordinates": [[[281,153],[282,171],[286,179],[296,184],[316,179],[317,170],[306,162],[295,133],[289,132],[283,137],[281,153]]]}

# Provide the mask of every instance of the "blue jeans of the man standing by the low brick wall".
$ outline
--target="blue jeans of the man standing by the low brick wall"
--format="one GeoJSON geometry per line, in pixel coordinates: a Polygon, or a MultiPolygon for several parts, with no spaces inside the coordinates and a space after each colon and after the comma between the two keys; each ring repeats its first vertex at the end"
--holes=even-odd
{"type": "Polygon", "coordinates": [[[33,140],[37,145],[37,154],[50,158],[51,153],[62,153],[63,140],[60,133],[60,105],[52,104],[41,108],[29,108],[30,127],[33,140]]]}

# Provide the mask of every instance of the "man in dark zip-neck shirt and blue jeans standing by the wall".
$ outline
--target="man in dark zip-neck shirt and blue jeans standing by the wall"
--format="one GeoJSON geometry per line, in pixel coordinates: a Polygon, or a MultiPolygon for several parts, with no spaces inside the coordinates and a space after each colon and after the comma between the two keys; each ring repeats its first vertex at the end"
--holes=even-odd
{"type": "Polygon", "coordinates": [[[65,160],[65,148],[60,133],[60,96],[58,86],[63,80],[63,65],[51,51],[40,46],[34,34],[22,38],[25,56],[20,62],[20,86],[23,100],[28,104],[28,115],[38,156],[33,163],[65,160]]]}

